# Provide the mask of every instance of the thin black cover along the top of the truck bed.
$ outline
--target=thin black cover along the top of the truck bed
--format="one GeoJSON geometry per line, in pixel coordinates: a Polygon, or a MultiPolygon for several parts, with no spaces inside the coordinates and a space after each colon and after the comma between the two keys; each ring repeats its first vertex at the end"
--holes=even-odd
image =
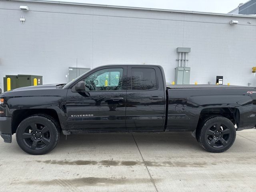
{"type": "Polygon", "coordinates": [[[236,86],[236,85],[168,85],[168,89],[255,89],[256,87],[236,86]]]}

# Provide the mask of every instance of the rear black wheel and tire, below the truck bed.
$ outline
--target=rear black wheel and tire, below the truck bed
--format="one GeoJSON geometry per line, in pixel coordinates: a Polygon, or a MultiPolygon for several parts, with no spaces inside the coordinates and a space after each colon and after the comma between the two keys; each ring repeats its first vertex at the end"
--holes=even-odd
{"type": "Polygon", "coordinates": [[[225,117],[210,116],[198,125],[196,139],[208,152],[224,152],[234,144],[236,128],[232,121],[225,117]]]}

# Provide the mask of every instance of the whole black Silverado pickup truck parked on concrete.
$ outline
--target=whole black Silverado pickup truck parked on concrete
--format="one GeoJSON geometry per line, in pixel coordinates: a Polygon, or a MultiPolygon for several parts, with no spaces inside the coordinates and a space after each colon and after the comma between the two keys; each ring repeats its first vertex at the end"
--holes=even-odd
{"type": "MultiPolygon", "coordinates": [[[[60,133],[190,131],[209,152],[232,146],[256,125],[256,89],[171,85],[161,66],[94,68],[68,84],[17,88],[0,95],[0,135],[46,154],[60,133]]],[[[150,142],[150,141],[148,141],[150,142]]]]}

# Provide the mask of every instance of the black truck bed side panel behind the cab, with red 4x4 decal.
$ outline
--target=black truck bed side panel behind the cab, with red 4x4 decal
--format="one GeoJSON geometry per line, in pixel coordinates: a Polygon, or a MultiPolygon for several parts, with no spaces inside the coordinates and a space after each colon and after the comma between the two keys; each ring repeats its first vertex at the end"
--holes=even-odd
{"type": "Polygon", "coordinates": [[[239,114],[238,130],[253,128],[256,122],[255,92],[255,87],[248,86],[171,85],[167,88],[166,131],[192,131],[202,114],[223,116],[229,112],[239,114]]]}

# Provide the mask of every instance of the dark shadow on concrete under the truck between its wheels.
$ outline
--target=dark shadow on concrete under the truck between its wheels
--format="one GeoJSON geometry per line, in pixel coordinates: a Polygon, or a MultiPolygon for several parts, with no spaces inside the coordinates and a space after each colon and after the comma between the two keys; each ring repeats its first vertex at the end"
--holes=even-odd
{"type": "Polygon", "coordinates": [[[76,149],[87,150],[121,150],[122,148],[136,147],[148,148],[150,150],[182,149],[202,150],[196,138],[190,132],[168,132],[168,133],[88,133],[71,134],[67,138],[62,135],[56,150],[65,150],[71,146],[76,149]],[[135,142],[136,141],[136,142],[135,142]]]}

